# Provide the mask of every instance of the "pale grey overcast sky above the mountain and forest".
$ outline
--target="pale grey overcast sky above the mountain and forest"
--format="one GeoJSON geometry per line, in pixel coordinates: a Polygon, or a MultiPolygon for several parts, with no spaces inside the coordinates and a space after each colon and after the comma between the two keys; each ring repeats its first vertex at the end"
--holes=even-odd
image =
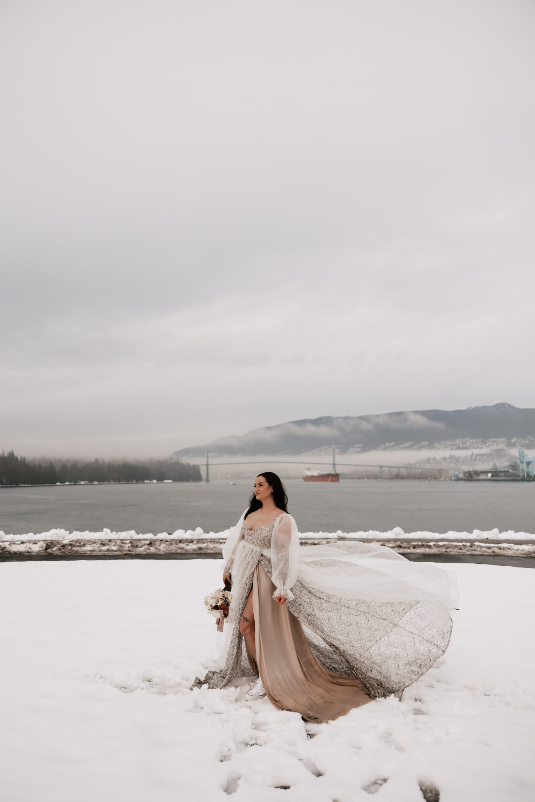
{"type": "Polygon", "coordinates": [[[535,407],[533,0],[3,0],[2,437],[535,407]]]}

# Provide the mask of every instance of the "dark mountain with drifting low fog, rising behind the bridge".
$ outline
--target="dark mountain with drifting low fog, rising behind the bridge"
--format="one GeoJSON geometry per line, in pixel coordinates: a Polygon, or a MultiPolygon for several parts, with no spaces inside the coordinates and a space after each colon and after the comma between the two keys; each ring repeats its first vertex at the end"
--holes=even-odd
{"type": "Polygon", "coordinates": [[[387,415],[346,415],[291,420],[277,426],[253,429],[212,443],[182,448],[172,456],[281,456],[324,452],[336,446],[340,454],[375,450],[419,450],[528,447],[535,442],[535,409],[519,409],[509,403],[492,407],[468,407],[389,412],[387,415]]]}

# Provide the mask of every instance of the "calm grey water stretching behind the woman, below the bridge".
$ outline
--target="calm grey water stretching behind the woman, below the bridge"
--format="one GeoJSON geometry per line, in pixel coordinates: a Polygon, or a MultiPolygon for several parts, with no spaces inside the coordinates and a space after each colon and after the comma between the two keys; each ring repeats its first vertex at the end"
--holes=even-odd
{"type": "MultiPolygon", "coordinates": [[[[535,533],[535,483],[286,480],[289,509],[301,532],[404,532],[474,529],[535,533]]],[[[0,488],[0,529],[137,533],[196,529],[221,532],[243,512],[252,482],[85,484],[0,488]]]]}

